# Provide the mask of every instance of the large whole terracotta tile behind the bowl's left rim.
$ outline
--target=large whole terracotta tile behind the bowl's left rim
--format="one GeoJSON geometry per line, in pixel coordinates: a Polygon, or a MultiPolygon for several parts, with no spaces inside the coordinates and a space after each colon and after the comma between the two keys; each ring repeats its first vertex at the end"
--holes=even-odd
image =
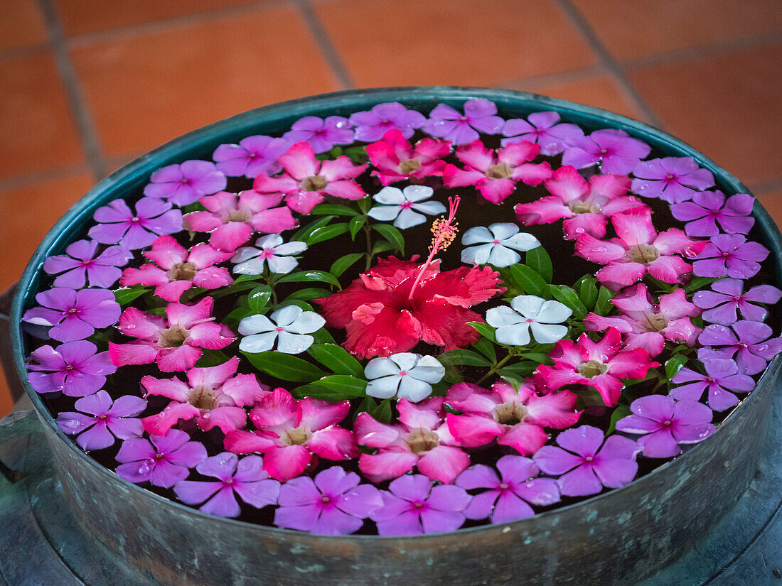
{"type": "Polygon", "coordinates": [[[109,156],[149,150],[260,105],[337,89],[299,14],[288,8],[118,38],[71,55],[109,156]]]}

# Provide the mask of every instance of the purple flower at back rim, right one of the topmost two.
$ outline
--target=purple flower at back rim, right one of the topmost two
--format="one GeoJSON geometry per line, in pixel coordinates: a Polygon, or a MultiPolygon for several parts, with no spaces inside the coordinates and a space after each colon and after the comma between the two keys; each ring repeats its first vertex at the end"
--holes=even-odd
{"type": "Polygon", "coordinates": [[[450,105],[438,104],[429,113],[424,131],[434,137],[445,138],[454,145],[465,145],[483,134],[500,134],[504,120],[497,114],[494,102],[477,98],[465,102],[464,116],[450,105]]]}

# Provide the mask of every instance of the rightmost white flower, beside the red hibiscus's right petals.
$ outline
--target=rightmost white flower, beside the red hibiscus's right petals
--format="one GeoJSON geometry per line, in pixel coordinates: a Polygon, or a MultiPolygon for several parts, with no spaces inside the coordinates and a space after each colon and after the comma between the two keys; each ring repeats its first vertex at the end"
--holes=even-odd
{"type": "Polygon", "coordinates": [[[500,344],[527,345],[530,330],[540,344],[551,344],[568,333],[567,326],[552,325],[567,320],[573,313],[572,309],[558,301],[544,301],[535,295],[518,295],[511,300],[511,307],[494,307],[486,312],[486,323],[497,328],[500,344]]]}

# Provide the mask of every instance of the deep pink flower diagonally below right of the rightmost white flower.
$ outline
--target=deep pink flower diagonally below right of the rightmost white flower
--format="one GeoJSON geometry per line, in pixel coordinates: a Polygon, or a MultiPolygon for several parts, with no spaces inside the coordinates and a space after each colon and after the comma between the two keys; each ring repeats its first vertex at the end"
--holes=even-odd
{"type": "Polygon", "coordinates": [[[622,394],[621,379],[640,381],[652,362],[643,348],[622,350],[622,335],[609,327],[601,341],[594,342],[581,334],[578,343],[560,340],[551,351],[554,366],[541,364],[535,370],[538,388],[555,391],[565,384],[587,384],[597,389],[603,402],[613,407],[622,394]]]}

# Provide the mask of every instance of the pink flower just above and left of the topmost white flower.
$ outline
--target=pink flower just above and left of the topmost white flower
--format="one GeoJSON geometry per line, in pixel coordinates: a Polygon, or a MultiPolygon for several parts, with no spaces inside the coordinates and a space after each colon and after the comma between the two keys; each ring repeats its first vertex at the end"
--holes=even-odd
{"type": "Polygon", "coordinates": [[[264,195],[285,195],[285,202],[296,212],[310,213],[326,194],[351,200],[367,195],[354,181],[367,166],[355,166],[345,155],[321,162],[307,142],[297,142],[279,160],[285,173],[279,177],[261,173],[253,189],[264,195]]]}

